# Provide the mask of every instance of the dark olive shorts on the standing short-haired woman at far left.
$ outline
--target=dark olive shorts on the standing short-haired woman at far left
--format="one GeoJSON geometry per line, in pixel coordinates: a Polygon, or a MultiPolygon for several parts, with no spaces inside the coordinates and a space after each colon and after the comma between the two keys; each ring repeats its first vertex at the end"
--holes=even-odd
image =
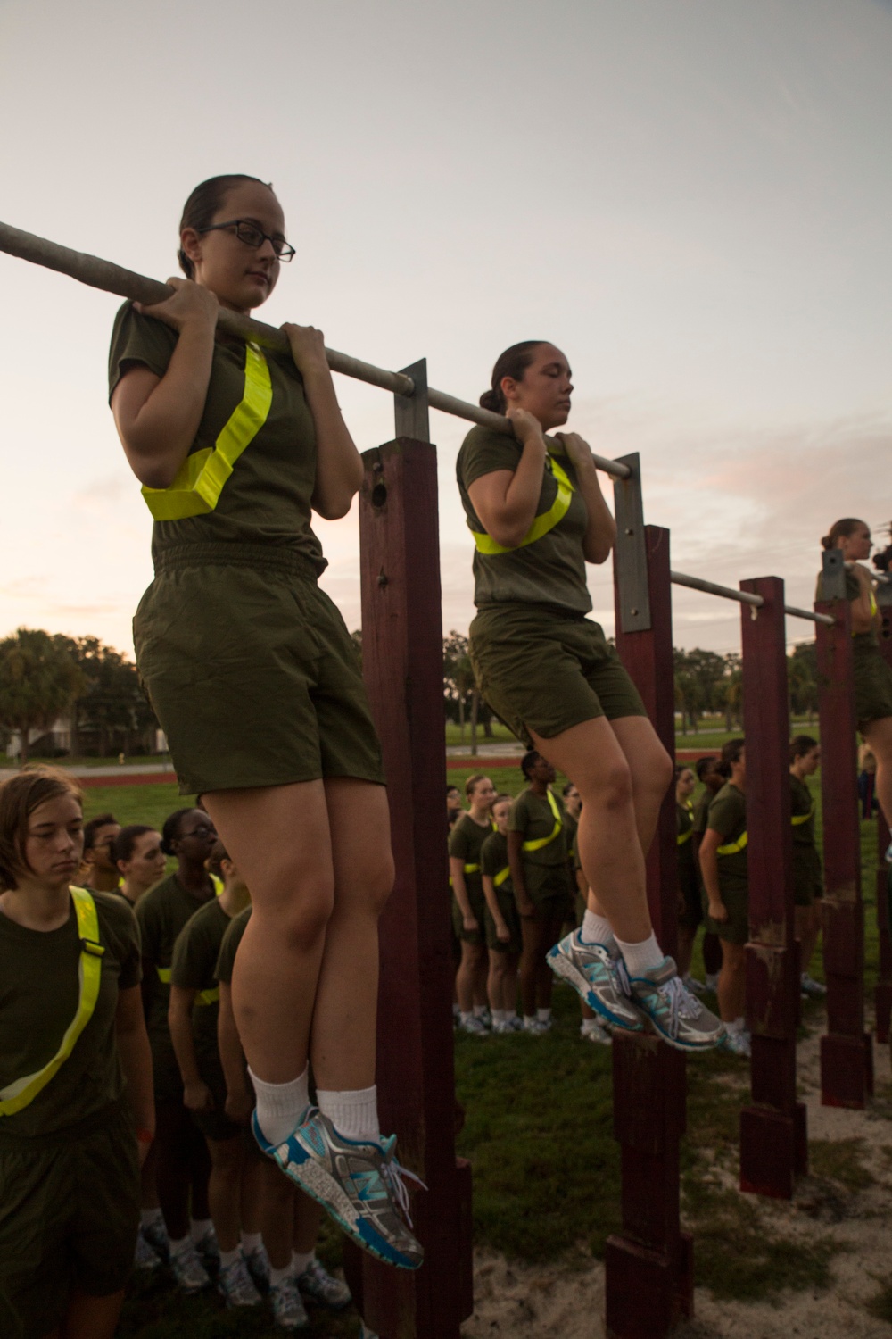
{"type": "Polygon", "coordinates": [[[134,1267],[139,1161],[130,1113],[108,1107],[40,1139],[0,1137],[0,1324],[41,1339],[71,1292],[119,1292],[134,1267]],[[17,1328],[16,1328],[17,1327],[17,1328]]]}

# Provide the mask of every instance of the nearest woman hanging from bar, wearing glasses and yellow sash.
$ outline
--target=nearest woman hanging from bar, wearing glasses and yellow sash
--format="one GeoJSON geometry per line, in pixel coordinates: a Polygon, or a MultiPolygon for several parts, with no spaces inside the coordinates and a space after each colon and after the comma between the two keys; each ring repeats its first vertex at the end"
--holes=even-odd
{"type": "Polygon", "coordinates": [[[417,1268],[374,1089],[393,882],[381,750],[310,528],[312,511],[346,514],[362,462],[320,331],[282,327],[289,358],[215,328],[219,307],[263,303],[293,254],[270,186],[214,177],[186,202],[174,296],[118,313],[111,406],[155,518],[134,643],[182,790],[203,795],[251,890],[233,1006],[257,1141],[360,1247],[417,1268]]]}

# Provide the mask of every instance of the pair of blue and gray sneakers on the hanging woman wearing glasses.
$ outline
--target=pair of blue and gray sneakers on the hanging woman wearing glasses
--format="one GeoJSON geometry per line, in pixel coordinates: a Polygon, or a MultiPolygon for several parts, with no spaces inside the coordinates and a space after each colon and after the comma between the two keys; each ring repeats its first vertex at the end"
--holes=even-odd
{"type": "Polygon", "coordinates": [[[380,1144],[345,1139],[316,1107],[308,1109],[282,1144],[271,1145],[265,1138],[257,1111],[251,1129],[262,1152],[321,1204],[358,1247],[397,1269],[421,1267],[421,1243],[404,1221],[409,1194],[403,1177],[413,1174],[395,1157],[396,1135],[380,1144]]]}

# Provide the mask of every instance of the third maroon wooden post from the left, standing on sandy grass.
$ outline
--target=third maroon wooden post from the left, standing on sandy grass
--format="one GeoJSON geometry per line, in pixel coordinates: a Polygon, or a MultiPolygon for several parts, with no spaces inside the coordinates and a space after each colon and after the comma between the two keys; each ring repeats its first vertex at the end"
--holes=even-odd
{"type": "Polygon", "coordinates": [[[786,632],[780,577],[741,581],[749,943],[746,1020],[752,1105],[741,1111],[741,1190],[789,1200],[808,1170],[805,1106],[796,1101],[800,965],[793,909],[786,632]]]}

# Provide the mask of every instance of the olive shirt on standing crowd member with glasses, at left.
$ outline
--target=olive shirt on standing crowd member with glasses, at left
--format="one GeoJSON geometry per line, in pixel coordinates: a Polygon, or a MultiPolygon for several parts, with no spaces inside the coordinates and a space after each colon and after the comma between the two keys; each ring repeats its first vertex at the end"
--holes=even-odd
{"type": "MultiPolygon", "coordinates": [[[[213,894],[211,894],[213,897],[213,894]]],[[[179,1066],[170,1039],[167,1010],[170,1007],[170,980],[162,980],[174,961],[174,944],[186,923],[203,907],[209,897],[197,897],[183,888],[177,873],[150,888],[136,902],[136,923],[142,937],[143,969],[147,1000],[146,1031],[151,1044],[155,1097],[159,1101],[177,1099],[181,1090],[179,1066]]]]}

